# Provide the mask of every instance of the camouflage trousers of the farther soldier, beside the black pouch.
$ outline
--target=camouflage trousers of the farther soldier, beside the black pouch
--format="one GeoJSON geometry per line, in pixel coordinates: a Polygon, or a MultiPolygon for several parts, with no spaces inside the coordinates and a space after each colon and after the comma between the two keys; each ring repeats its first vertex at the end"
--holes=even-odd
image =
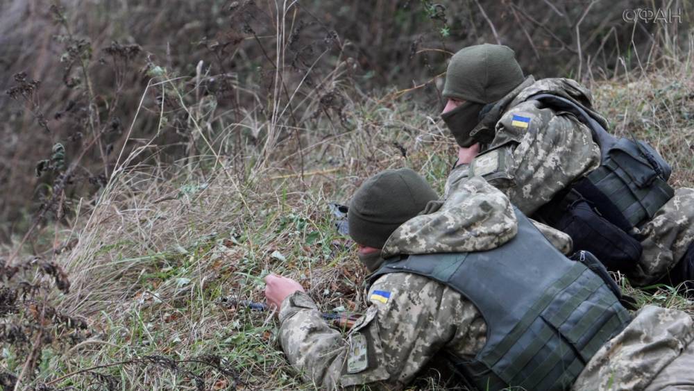
{"type": "Polygon", "coordinates": [[[629,281],[648,285],[679,262],[694,242],[694,189],[680,188],[656,215],[641,227],[643,253],[629,281]]]}

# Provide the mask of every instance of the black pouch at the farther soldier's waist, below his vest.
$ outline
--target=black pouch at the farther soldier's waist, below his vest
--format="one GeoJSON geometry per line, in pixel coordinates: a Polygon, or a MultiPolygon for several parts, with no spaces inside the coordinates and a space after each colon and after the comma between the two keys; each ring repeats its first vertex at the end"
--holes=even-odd
{"type": "Polygon", "coordinates": [[[541,221],[571,237],[574,251],[593,253],[612,272],[626,272],[641,258],[641,243],[598,215],[575,190],[538,213],[541,221]]]}

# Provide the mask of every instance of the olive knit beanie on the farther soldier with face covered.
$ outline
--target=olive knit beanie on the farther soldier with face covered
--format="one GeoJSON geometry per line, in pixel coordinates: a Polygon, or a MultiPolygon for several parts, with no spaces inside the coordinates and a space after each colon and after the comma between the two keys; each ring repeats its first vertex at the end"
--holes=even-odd
{"type": "Polygon", "coordinates": [[[524,79],[511,48],[494,44],[465,47],[448,63],[443,97],[477,103],[496,102],[524,79]]]}

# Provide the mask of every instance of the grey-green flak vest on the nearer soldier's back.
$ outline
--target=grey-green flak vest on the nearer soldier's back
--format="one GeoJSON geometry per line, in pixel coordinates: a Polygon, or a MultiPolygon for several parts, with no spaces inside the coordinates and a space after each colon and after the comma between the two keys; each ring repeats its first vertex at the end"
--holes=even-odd
{"type": "Polygon", "coordinates": [[[631,317],[600,276],[566,258],[523,213],[516,217],[518,234],[501,247],[387,260],[370,281],[419,274],[475,304],[486,344],[473,359],[453,356],[452,365],[477,389],[564,390],[631,317]]]}

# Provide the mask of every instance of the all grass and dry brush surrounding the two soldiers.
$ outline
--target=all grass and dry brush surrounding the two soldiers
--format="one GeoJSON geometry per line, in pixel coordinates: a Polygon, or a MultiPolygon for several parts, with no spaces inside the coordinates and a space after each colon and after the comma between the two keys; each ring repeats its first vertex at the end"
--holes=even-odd
{"type": "MultiPolygon", "coordinates": [[[[263,301],[272,271],[323,311],[364,309],[366,271],[328,202],[392,167],[441,190],[455,160],[441,87],[470,44],[507,44],[526,74],[585,83],[611,131],[648,140],[671,184],[694,186],[693,12],[0,0],[0,388],[313,388],[271,314],[228,304],[263,301]]],[[[675,288],[615,278],[639,305],[694,313],[675,288]]],[[[439,386],[423,374],[414,388],[439,386]]]]}

